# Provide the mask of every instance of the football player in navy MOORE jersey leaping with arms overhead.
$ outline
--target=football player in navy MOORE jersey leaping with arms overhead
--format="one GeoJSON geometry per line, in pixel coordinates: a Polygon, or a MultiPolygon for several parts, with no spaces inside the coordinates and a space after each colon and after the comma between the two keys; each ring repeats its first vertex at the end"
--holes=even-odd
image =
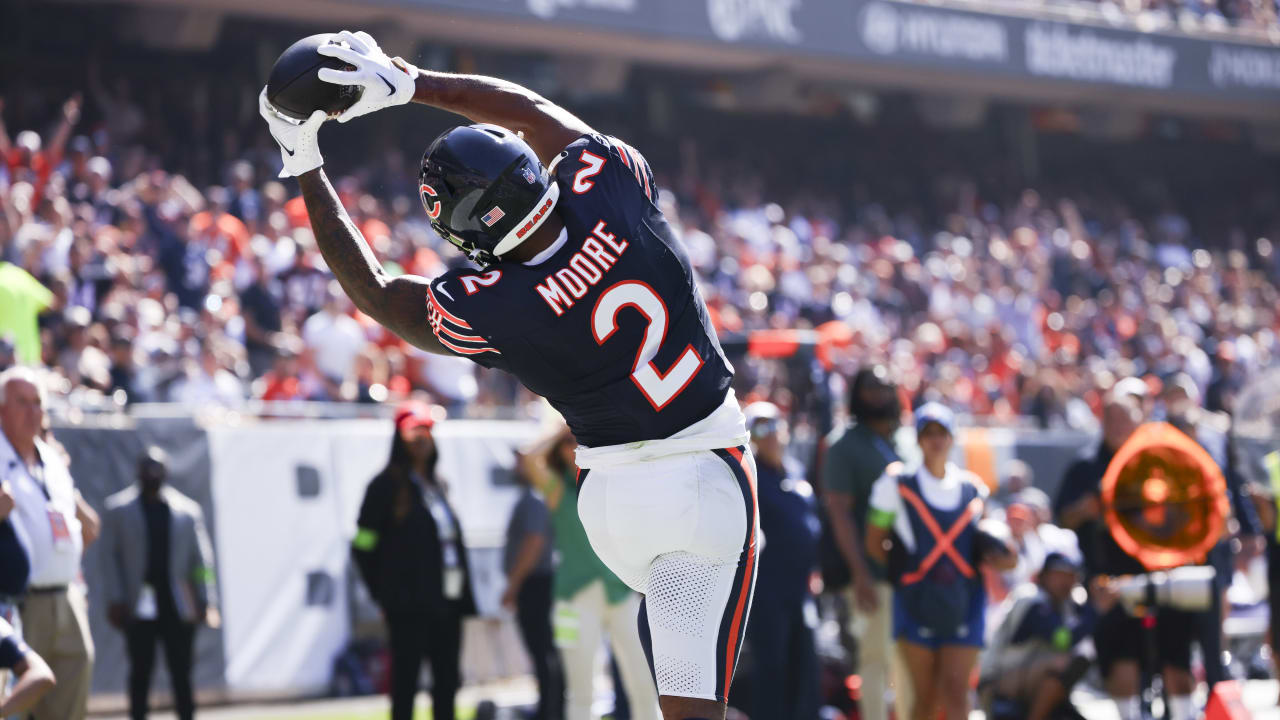
{"type": "Polygon", "coordinates": [[[410,101],[474,123],[422,156],[431,225],[476,269],[389,277],[321,169],[316,110],[262,117],[329,268],[361,311],[426,351],[516,375],[579,442],[591,546],[643,593],[637,621],[667,720],[721,720],[756,569],[754,460],[721,350],[644,156],[502,79],[420,70],[367,33],[320,53],[362,88],[337,119],[410,101]]]}

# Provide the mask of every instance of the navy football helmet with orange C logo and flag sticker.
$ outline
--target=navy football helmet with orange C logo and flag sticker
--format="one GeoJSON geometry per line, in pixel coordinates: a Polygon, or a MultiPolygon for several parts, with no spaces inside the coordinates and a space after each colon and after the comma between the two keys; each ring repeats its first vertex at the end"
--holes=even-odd
{"type": "Polygon", "coordinates": [[[417,190],[435,232],[481,265],[529,238],[559,200],[529,143],[490,124],[436,137],[422,155],[417,190]]]}

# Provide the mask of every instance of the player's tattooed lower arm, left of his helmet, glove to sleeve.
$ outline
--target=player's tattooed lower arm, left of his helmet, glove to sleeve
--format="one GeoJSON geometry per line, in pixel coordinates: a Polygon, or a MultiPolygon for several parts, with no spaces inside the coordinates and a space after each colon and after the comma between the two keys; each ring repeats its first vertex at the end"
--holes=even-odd
{"type": "Polygon", "coordinates": [[[426,322],[429,281],[417,275],[387,274],[347,215],[324,169],[300,174],[298,186],[320,254],[356,307],[428,352],[452,355],[426,322]]]}

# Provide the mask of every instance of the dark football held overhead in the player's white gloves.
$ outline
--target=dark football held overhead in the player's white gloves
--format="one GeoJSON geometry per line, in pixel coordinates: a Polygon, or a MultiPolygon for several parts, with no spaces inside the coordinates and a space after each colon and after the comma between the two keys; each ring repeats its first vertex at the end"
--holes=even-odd
{"type": "Polygon", "coordinates": [[[334,85],[319,77],[320,68],[352,69],[337,58],[316,53],[325,44],[340,44],[330,32],[311,35],[289,45],[271,65],[266,81],[266,99],[282,114],[305,120],[316,110],[335,114],[351,108],[360,99],[361,87],[334,85]]]}

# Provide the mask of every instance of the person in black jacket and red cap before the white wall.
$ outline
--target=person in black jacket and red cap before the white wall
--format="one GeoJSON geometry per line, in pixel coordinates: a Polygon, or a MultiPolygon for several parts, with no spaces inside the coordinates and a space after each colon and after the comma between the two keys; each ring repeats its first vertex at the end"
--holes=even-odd
{"type": "Polygon", "coordinates": [[[454,719],[462,619],[475,615],[462,527],[435,475],[430,410],[396,411],[392,455],[369,483],[352,555],[383,609],[392,650],[392,720],[413,716],[424,659],[431,664],[436,720],[454,719]]]}

